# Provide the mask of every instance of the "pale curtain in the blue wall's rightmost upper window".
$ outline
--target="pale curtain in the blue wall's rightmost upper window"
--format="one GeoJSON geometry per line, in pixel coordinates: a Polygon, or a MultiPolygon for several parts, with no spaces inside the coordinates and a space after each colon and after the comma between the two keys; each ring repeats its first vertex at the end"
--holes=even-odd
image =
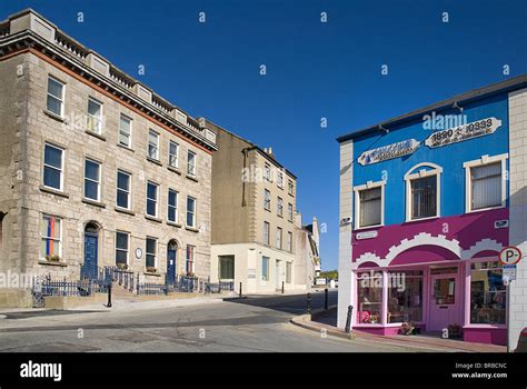
{"type": "Polygon", "coordinates": [[[470,169],[473,210],[501,205],[501,162],[470,169]]]}

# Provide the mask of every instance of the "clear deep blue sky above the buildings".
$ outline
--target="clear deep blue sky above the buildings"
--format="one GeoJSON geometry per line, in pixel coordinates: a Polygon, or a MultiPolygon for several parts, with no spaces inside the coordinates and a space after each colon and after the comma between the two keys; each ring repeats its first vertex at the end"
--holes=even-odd
{"type": "Polygon", "coordinates": [[[327,225],[324,269],[338,266],[337,136],[527,72],[524,0],[2,0],[0,19],[28,7],[190,114],[272,147],[305,222],[327,225]]]}

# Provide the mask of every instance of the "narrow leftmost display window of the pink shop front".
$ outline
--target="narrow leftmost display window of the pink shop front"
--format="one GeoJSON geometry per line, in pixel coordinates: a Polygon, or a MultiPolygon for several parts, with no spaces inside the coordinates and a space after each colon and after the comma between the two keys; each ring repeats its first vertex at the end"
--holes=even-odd
{"type": "Polygon", "coordinates": [[[357,275],[358,310],[357,322],[380,325],[382,311],[382,273],[357,275]]]}

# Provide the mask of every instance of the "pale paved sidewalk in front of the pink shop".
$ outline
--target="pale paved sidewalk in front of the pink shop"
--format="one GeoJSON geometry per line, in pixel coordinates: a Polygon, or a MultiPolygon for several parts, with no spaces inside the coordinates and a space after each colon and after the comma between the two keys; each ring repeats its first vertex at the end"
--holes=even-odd
{"type": "Polygon", "coordinates": [[[505,346],[473,343],[461,340],[443,339],[429,336],[379,336],[364,331],[351,331],[345,333],[336,325],[337,307],[329,307],[327,311],[316,310],[312,315],[301,315],[291,319],[291,323],[305,329],[320,332],[326,331],[329,336],[349,339],[357,339],[368,342],[377,342],[404,348],[409,351],[432,351],[432,352],[507,352],[505,346]],[[312,321],[315,320],[315,321],[312,321]]]}

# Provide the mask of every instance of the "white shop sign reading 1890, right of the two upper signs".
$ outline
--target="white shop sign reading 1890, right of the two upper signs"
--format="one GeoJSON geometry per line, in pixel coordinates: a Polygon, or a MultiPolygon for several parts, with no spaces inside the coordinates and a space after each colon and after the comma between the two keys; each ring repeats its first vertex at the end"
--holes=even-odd
{"type": "Polygon", "coordinates": [[[456,128],[434,132],[425,140],[425,144],[430,148],[436,148],[457,143],[464,140],[488,136],[494,133],[499,127],[501,127],[501,120],[499,119],[494,117],[481,119],[456,128]]]}

